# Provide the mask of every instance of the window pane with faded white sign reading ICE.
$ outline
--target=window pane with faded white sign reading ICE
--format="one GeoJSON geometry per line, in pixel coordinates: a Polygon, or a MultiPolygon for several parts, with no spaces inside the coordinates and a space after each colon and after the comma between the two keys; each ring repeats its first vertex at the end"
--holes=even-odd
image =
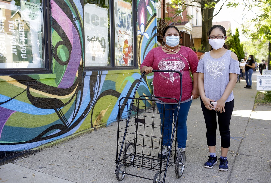
{"type": "Polygon", "coordinates": [[[108,0],[84,0],[85,65],[111,66],[108,0]]]}

